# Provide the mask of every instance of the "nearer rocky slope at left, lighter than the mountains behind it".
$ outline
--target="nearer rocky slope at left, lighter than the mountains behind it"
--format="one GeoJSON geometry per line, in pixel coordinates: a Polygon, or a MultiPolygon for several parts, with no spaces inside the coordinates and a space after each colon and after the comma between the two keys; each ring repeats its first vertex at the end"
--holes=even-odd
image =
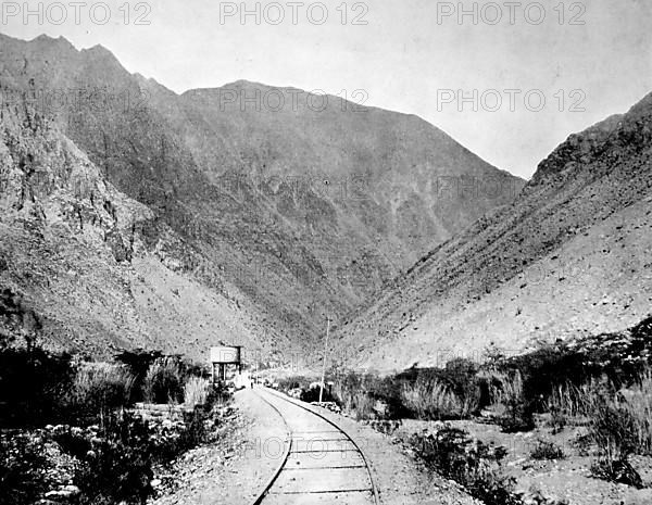
{"type": "Polygon", "coordinates": [[[152,219],[29,104],[0,109],[3,337],[36,331],[48,348],[93,355],[140,345],[200,357],[227,336],[252,345],[254,318],[237,299],[165,266],[179,239],[165,229],[153,240],[152,219]]]}

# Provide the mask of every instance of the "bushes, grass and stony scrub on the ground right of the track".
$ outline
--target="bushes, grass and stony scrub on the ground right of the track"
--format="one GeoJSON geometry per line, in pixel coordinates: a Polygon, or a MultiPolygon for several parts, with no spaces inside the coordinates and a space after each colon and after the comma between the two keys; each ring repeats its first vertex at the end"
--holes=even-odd
{"type": "MultiPolygon", "coordinates": [[[[286,378],[279,387],[313,401],[314,380],[286,378]]],[[[327,380],[325,400],[399,435],[428,467],[485,503],[652,496],[641,490],[652,468],[652,317],[625,331],[538,343],[514,357],[490,346],[482,363],[457,358],[392,376],[333,367],[327,380]],[[584,491],[552,483],[560,471],[584,491]]]]}

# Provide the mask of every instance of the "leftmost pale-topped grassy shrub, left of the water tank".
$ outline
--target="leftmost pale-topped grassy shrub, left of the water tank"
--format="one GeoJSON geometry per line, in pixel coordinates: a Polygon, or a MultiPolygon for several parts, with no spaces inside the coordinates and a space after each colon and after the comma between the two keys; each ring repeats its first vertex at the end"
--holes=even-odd
{"type": "Polygon", "coordinates": [[[134,376],[122,365],[84,363],[75,375],[71,400],[77,412],[105,415],[129,404],[134,376]]]}

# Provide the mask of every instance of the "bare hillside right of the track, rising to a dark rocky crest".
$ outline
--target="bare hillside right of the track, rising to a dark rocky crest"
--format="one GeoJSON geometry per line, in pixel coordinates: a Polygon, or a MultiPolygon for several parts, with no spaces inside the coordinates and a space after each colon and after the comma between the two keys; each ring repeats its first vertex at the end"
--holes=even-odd
{"type": "Polygon", "coordinates": [[[652,94],[572,135],[511,204],[436,248],[338,331],[380,369],[617,331],[652,312],[652,94]]]}

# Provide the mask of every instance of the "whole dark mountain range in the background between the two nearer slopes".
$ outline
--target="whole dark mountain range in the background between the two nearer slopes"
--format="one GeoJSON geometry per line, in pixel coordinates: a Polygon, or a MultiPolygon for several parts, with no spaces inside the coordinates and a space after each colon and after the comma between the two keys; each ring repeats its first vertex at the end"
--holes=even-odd
{"type": "Polygon", "coordinates": [[[149,207],[143,240],[164,266],[237,299],[279,349],[311,349],[326,313],[346,314],[523,186],[414,116],[336,97],[321,110],[299,90],[278,110],[247,105],[240,91],[269,91],[249,83],[177,96],[102,47],[0,42],[3,94],[149,207]],[[178,242],[160,244],[166,233],[178,242]]]}

